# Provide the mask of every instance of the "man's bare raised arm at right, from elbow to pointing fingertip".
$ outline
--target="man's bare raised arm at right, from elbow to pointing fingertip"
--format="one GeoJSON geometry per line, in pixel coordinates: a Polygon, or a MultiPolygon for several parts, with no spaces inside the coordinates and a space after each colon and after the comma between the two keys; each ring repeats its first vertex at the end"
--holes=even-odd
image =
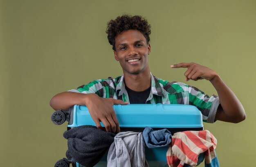
{"type": "Polygon", "coordinates": [[[243,105],[216,72],[195,63],[179,63],[172,65],[171,68],[188,68],[184,73],[186,81],[189,81],[189,79],[194,81],[206,79],[211,82],[220,100],[220,105],[216,112],[216,120],[233,123],[245,120],[246,114],[243,105]]]}

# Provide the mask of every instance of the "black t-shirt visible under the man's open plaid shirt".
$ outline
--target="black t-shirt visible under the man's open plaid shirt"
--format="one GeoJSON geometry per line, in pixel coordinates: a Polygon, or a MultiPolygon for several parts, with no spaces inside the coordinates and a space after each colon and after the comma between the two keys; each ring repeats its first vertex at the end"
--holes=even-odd
{"type": "Polygon", "coordinates": [[[125,86],[129,96],[130,104],[145,104],[150,94],[151,86],[144,91],[136,92],[125,86]]]}

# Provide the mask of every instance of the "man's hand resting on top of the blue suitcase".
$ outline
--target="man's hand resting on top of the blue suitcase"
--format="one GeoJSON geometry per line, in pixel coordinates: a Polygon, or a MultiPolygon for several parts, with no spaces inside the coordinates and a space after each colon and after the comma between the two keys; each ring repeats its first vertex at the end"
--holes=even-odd
{"type": "Polygon", "coordinates": [[[100,121],[105,125],[107,132],[118,133],[120,132],[117,116],[113,109],[114,104],[126,105],[128,102],[116,100],[113,98],[101,98],[97,94],[87,94],[85,105],[87,106],[92,120],[96,126],[103,130],[100,121]]]}

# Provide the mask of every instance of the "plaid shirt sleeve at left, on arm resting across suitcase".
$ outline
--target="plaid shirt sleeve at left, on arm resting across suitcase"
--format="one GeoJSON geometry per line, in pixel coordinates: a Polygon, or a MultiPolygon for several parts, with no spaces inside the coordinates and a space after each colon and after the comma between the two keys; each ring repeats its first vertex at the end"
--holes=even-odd
{"type": "Polygon", "coordinates": [[[98,94],[99,97],[103,97],[103,86],[101,84],[101,79],[99,79],[99,80],[94,80],[88,83],[87,85],[79,86],[76,89],[68,90],[68,92],[76,92],[76,93],[84,93],[84,94],[95,93],[95,94],[98,94]]]}

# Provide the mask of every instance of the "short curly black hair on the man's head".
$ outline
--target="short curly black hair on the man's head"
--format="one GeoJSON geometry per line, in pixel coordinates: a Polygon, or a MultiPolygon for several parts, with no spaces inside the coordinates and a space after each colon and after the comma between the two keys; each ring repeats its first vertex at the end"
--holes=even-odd
{"type": "Polygon", "coordinates": [[[121,17],[118,16],[115,20],[110,20],[108,22],[106,33],[108,34],[108,42],[112,45],[112,49],[116,50],[115,37],[121,32],[130,29],[138,30],[144,35],[148,43],[150,40],[149,35],[151,33],[150,28],[151,26],[148,24],[148,21],[139,15],[122,15],[121,17]]]}

